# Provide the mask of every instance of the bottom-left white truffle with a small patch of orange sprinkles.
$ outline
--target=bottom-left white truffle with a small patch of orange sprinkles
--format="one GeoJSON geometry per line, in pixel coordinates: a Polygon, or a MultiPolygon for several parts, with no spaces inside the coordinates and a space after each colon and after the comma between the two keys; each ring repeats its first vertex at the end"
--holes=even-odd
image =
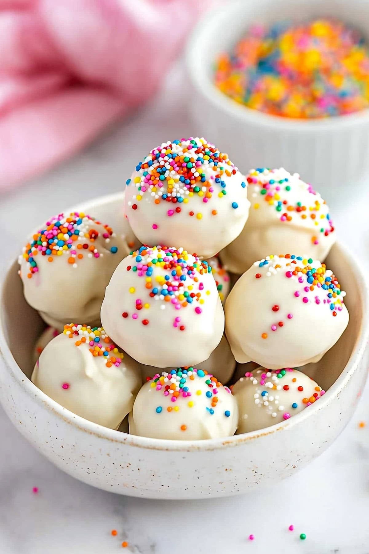
{"type": "Polygon", "coordinates": [[[141,374],[102,327],[70,324],[41,352],[32,382],[78,416],[117,429],[132,410],[141,374]]]}

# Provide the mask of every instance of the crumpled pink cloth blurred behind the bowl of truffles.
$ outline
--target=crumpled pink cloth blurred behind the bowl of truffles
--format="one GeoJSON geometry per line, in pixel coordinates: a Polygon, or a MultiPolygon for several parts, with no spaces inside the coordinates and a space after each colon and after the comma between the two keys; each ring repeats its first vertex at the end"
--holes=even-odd
{"type": "Polygon", "coordinates": [[[200,6],[0,0],[0,189],[46,170],[147,100],[200,6]]]}

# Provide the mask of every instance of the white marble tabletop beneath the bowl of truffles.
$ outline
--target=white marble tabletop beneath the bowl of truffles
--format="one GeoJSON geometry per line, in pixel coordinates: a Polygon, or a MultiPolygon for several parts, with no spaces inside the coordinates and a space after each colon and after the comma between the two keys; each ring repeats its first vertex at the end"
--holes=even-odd
{"type": "MultiPolygon", "coordinates": [[[[48,175],[0,196],[0,233],[7,238],[0,269],[35,224],[59,208],[117,191],[157,142],[201,132],[178,109],[188,98],[182,79],[178,66],[162,93],[131,120],[48,175]]],[[[331,213],[340,237],[367,265],[369,184],[347,190],[348,203],[332,191],[331,213]]],[[[299,474],[247,496],[204,501],[133,499],[79,483],[38,454],[0,408],[0,552],[110,554],[124,551],[127,540],[126,552],[142,554],[368,554],[368,401],[367,387],[345,432],[299,474]],[[295,531],[288,531],[290,524],[295,531]]]]}

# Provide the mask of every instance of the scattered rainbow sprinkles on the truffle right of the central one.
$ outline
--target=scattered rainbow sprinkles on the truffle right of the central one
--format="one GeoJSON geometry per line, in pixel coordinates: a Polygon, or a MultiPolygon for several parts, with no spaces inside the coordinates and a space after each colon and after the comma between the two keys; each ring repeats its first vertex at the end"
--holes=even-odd
{"type": "MultiPolygon", "coordinates": [[[[295,299],[306,305],[319,305],[322,300],[321,295],[316,294],[316,289],[324,290],[326,297],[323,298],[323,304],[327,305],[332,312],[332,316],[336,317],[336,315],[342,311],[342,304],[344,303],[346,293],[341,291],[341,285],[337,281],[337,278],[331,270],[326,269],[325,264],[321,264],[315,268],[311,265],[314,263],[314,260],[311,258],[306,259],[302,256],[295,256],[293,254],[280,254],[279,256],[271,255],[264,260],[256,261],[254,266],[266,268],[267,271],[264,273],[264,276],[271,277],[282,270],[282,265],[279,263],[281,258],[290,260],[287,264],[283,263],[285,277],[287,279],[293,279],[293,283],[295,283],[297,279],[298,285],[296,290],[292,292],[295,299]]],[[[256,273],[255,279],[261,279],[262,276],[261,273],[256,273]]],[[[273,312],[278,312],[279,305],[274,304],[271,306],[271,310],[273,312]]],[[[287,319],[292,320],[293,314],[287,314],[287,319]]],[[[277,321],[276,319],[276,322],[271,326],[271,330],[275,332],[278,328],[283,326],[284,322],[277,321]]],[[[268,338],[268,333],[263,332],[261,337],[268,338]]]]}

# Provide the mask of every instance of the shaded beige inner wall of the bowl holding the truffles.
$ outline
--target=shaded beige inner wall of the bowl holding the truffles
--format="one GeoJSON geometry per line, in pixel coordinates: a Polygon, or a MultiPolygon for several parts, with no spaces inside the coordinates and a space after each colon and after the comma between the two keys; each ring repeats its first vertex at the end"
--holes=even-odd
{"type": "MultiPolygon", "coordinates": [[[[105,214],[111,213],[110,206],[121,201],[121,194],[116,194],[80,206],[77,209],[84,209],[91,216],[105,221],[105,214]]],[[[116,227],[119,227],[117,218],[116,227]]],[[[323,359],[309,366],[302,368],[310,377],[325,390],[336,381],[344,370],[347,361],[355,349],[356,342],[361,334],[363,325],[363,310],[365,301],[363,299],[363,285],[361,274],[358,273],[356,264],[353,263],[349,254],[339,244],[331,249],[326,261],[329,269],[332,269],[339,278],[342,290],[347,296],[345,303],[350,312],[350,321],[344,335],[331,348],[323,359]]],[[[15,261],[9,269],[3,288],[0,305],[0,318],[4,330],[4,336],[12,352],[15,362],[20,370],[29,378],[32,373],[32,352],[35,341],[43,330],[45,324],[38,312],[30,307],[23,297],[22,281],[17,275],[18,263],[15,261]]],[[[22,376],[19,371],[20,378],[22,376]]]]}

